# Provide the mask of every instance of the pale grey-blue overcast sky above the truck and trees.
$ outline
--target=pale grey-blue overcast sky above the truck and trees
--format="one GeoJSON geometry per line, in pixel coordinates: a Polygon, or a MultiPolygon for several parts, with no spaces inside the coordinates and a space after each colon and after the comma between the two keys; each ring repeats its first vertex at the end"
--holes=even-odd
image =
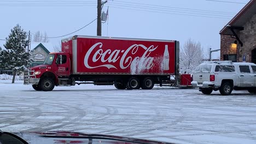
{"type": "MultiPolygon", "coordinates": [[[[249,0],[220,1],[225,2],[206,0],[108,1],[102,9],[106,12],[109,6],[109,21],[102,23],[102,36],[178,40],[181,46],[191,38],[199,41],[205,50],[209,46],[212,49],[220,49],[220,29],[249,0]]],[[[96,19],[96,5],[97,0],[0,1],[0,39],[8,37],[10,29],[17,23],[27,32],[46,32],[49,37],[71,33],[96,19]]],[[[97,22],[94,21],[72,35],[96,35],[96,26],[97,22]]],[[[59,45],[61,39],[50,39],[50,43],[59,45]]],[[[0,40],[1,47],[4,43],[0,40]]],[[[219,52],[215,52],[213,58],[218,57],[219,52]]]]}

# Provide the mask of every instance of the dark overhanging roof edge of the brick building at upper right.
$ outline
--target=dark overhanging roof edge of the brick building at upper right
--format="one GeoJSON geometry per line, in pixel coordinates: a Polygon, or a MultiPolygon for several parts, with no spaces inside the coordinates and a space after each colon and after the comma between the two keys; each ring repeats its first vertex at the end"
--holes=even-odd
{"type": "Polygon", "coordinates": [[[233,19],[219,32],[219,34],[233,35],[231,30],[227,26],[243,27],[245,23],[256,14],[256,0],[249,1],[245,7],[243,7],[239,13],[233,17],[233,19]]]}

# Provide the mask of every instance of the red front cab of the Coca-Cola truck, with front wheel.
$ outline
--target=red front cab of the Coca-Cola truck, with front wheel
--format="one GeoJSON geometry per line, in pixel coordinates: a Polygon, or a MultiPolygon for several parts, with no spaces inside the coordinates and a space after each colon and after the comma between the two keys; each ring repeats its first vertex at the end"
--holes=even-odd
{"type": "Polygon", "coordinates": [[[51,91],[55,86],[74,85],[71,75],[69,53],[49,53],[42,65],[24,71],[24,84],[32,85],[36,91],[51,91]]]}

